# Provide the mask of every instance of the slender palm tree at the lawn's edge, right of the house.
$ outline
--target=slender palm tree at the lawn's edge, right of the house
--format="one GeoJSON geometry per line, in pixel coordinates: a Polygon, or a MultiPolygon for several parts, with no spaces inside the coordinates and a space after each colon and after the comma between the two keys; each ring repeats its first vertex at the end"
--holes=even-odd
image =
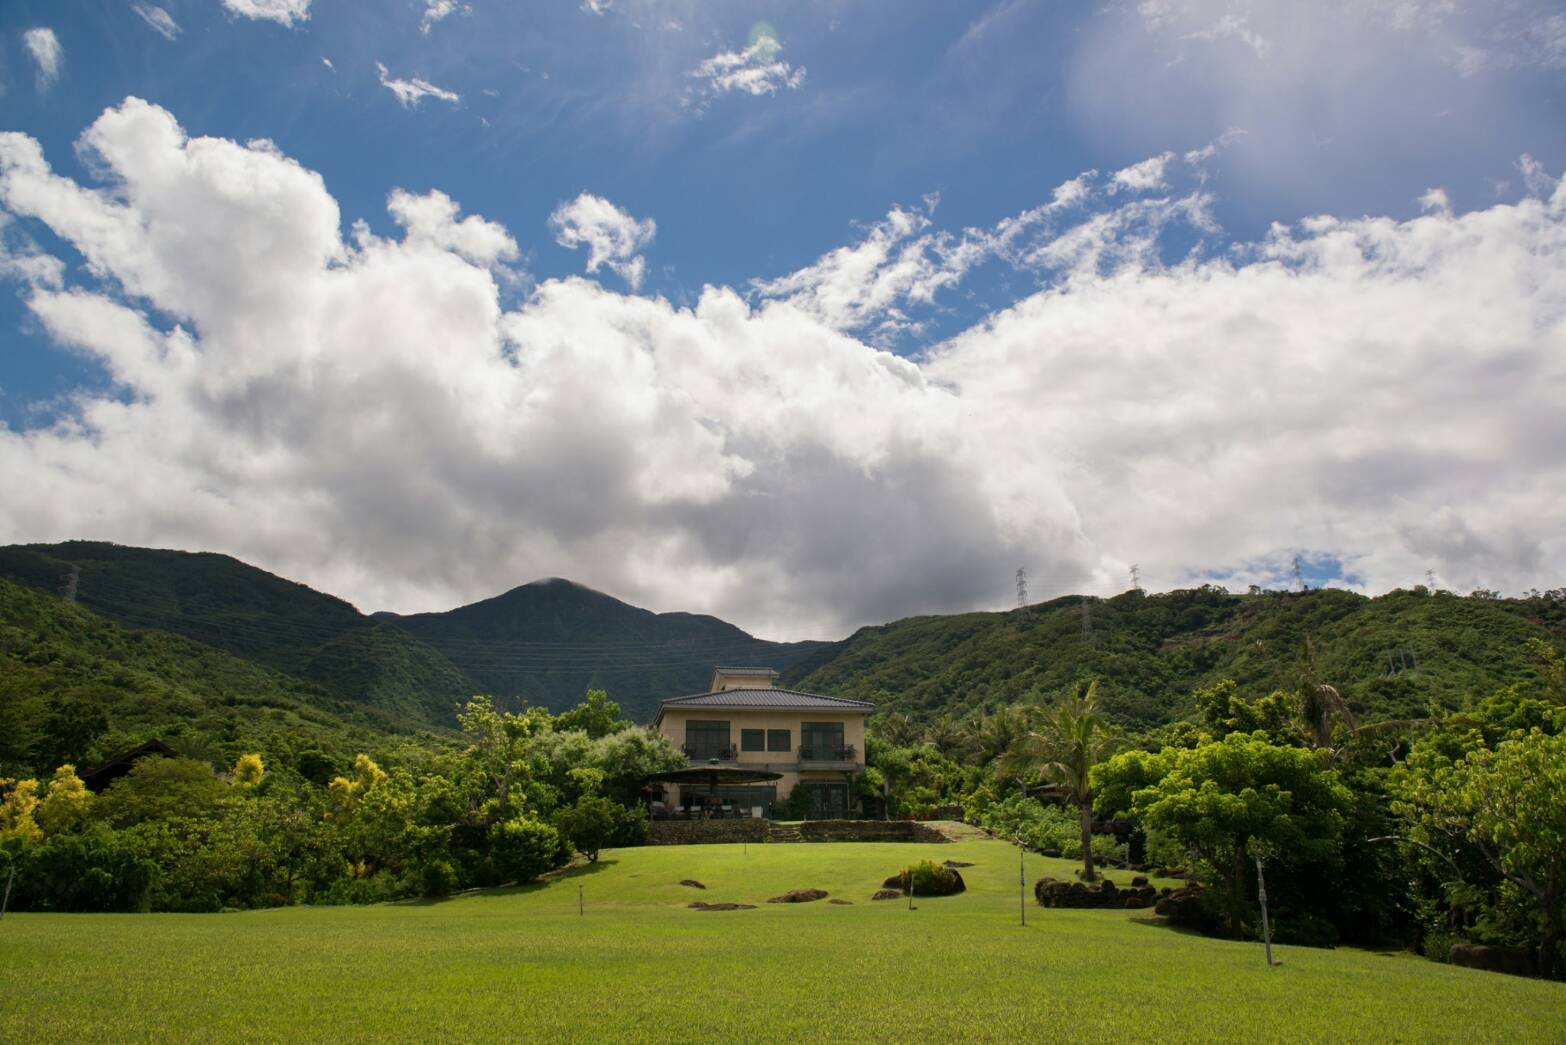
{"type": "Polygon", "coordinates": [[[1041,777],[1076,802],[1082,815],[1082,879],[1093,873],[1093,788],[1088,774],[1109,758],[1120,743],[1118,732],[1098,713],[1098,683],[1046,708],[1001,760],[1004,776],[1041,777]]]}

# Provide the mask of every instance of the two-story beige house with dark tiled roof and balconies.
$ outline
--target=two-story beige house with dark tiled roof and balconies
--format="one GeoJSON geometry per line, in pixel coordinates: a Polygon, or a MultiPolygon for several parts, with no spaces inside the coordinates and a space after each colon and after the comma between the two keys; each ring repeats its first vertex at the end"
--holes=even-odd
{"type": "Polygon", "coordinates": [[[864,719],[874,703],[778,689],[770,667],[717,667],[709,692],[670,697],[653,729],[681,749],[691,765],[734,766],[781,774],[766,786],[686,788],[664,791],[669,808],[719,801],[761,808],[796,788],[810,788],[811,816],[855,812],[853,783],[864,772],[864,719]]]}

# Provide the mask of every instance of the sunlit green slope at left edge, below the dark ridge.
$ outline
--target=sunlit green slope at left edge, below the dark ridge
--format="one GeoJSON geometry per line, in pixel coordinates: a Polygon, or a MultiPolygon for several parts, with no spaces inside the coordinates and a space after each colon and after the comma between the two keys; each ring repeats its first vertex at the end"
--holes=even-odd
{"type": "Polygon", "coordinates": [[[318,782],[362,750],[395,758],[453,743],[226,650],[124,628],[0,578],[0,777],[67,761],[88,769],[152,738],[218,765],[258,752],[318,782]]]}

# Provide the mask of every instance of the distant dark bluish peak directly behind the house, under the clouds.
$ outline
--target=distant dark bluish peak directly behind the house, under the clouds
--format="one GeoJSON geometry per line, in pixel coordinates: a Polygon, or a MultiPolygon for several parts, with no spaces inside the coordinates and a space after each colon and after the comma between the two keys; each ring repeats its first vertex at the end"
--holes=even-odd
{"type": "Polygon", "coordinates": [[[376,614],[440,650],[507,703],[564,710],[608,689],[648,721],[664,697],[700,692],[717,664],[785,669],[824,642],[769,642],[694,613],[651,613],[550,578],[446,613],[376,614]]]}

